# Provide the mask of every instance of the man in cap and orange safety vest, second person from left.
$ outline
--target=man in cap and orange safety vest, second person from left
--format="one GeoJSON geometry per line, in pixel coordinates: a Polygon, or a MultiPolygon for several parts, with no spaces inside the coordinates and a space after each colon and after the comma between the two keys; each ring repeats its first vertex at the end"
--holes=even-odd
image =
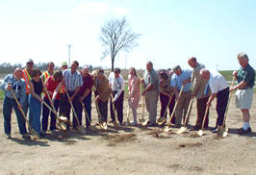
{"type": "Polygon", "coordinates": [[[28,60],[28,62],[26,63],[26,68],[24,68],[22,70],[22,78],[24,79],[25,81],[25,84],[26,84],[26,99],[24,101],[24,105],[23,105],[23,110],[25,112],[25,114],[27,114],[28,112],[28,109],[29,109],[29,103],[28,103],[28,96],[30,94],[30,81],[32,80],[31,78],[31,74],[32,74],[32,71],[34,70],[34,62],[32,59],[28,60]]]}

